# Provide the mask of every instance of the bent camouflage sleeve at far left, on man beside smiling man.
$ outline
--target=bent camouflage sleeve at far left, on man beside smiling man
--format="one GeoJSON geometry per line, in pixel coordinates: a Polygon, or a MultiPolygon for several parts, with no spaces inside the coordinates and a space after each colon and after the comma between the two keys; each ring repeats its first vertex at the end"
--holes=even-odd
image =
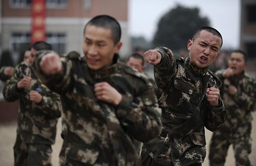
{"type": "Polygon", "coordinates": [[[12,102],[19,99],[20,94],[23,92],[23,89],[17,89],[17,83],[23,79],[23,67],[18,65],[15,67],[14,74],[6,82],[3,89],[4,100],[12,102]]]}

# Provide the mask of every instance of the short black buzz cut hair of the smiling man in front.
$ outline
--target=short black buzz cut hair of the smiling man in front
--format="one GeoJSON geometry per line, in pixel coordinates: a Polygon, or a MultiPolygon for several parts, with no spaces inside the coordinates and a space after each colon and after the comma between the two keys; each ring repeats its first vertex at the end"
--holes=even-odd
{"type": "Polygon", "coordinates": [[[97,15],[92,18],[87,24],[84,26],[83,34],[85,33],[85,29],[87,26],[96,26],[105,29],[111,30],[111,36],[114,44],[117,44],[121,38],[121,27],[117,20],[109,15],[97,15]]]}

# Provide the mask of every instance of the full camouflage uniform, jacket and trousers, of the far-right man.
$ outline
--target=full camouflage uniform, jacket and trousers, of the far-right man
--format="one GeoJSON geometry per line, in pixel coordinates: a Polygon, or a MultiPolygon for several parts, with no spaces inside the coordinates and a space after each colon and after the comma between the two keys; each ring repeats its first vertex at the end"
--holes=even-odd
{"type": "Polygon", "coordinates": [[[228,148],[233,144],[236,165],[250,166],[251,112],[256,110],[256,81],[244,72],[239,77],[224,78],[223,71],[218,70],[216,74],[222,82],[220,92],[227,109],[226,122],[211,138],[210,165],[224,166],[228,148]],[[237,88],[234,95],[228,93],[229,85],[237,88]]]}

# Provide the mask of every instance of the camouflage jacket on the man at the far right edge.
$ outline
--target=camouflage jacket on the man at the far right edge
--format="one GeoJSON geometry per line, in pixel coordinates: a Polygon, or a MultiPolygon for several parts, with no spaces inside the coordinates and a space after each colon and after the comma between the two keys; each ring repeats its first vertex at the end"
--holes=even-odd
{"type": "Polygon", "coordinates": [[[227,109],[226,122],[219,130],[223,136],[233,139],[241,136],[250,136],[252,130],[252,111],[256,110],[256,80],[243,72],[238,77],[224,78],[224,70],[216,74],[221,80],[220,92],[227,109]],[[228,93],[229,85],[234,85],[237,92],[228,93]]]}

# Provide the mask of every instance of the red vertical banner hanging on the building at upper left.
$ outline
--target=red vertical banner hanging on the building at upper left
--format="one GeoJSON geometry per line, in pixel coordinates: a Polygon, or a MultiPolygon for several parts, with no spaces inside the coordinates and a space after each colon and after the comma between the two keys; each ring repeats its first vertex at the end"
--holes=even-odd
{"type": "Polygon", "coordinates": [[[45,0],[32,0],[31,44],[45,41],[45,0]]]}

